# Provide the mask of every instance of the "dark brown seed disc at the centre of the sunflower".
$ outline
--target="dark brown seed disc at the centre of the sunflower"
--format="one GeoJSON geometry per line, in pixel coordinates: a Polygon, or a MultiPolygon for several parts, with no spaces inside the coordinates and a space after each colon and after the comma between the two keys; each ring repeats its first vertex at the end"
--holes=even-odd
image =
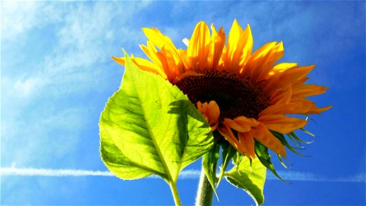
{"type": "Polygon", "coordinates": [[[258,115],[269,105],[258,85],[229,71],[203,71],[203,76],[183,78],[176,86],[191,102],[214,100],[220,107],[219,121],[239,116],[258,119],[258,115]]]}

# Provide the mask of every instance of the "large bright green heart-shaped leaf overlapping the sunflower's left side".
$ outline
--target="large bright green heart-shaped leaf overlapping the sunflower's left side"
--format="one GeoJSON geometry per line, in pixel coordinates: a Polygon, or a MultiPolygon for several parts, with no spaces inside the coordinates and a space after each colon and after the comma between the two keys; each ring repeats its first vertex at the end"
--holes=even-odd
{"type": "Polygon", "coordinates": [[[177,87],[126,55],[122,85],[100,117],[100,152],[121,179],[178,174],[214,144],[209,124],[177,87]]]}

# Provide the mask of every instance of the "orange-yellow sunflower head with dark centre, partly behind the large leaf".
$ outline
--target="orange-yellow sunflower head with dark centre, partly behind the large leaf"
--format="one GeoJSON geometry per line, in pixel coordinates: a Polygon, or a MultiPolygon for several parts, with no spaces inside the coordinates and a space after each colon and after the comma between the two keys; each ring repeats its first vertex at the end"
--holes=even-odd
{"type": "MultiPolygon", "coordinates": [[[[324,93],[327,87],[304,84],[314,65],[277,60],[284,56],[282,42],[271,42],[252,53],[251,28],[233,21],[227,45],[223,27],[219,31],[199,22],[187,49],[177,49],[168,36],[156,28],[143,28],[148,41],[140,45],[150,58],[132,56],[144,71],[157,73],[176,85],[196,105],[211,130],[225,137],[242,155],[255,158],[255,141],[286,157],[282,142],[274,132],[288,134],[303,128],[307,121],[298,115],[319,114],[306,98],[324,93]],[[286,115],[295,115],[288,117],[286,115]]],[[[125,65],[125,58],[112,57],[125,65]]]]}

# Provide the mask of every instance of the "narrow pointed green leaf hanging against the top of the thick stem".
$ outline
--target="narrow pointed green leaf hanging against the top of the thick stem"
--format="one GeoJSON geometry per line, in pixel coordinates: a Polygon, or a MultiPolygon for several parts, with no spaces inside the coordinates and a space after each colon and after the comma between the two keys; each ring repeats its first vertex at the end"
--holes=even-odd
{"type": "Polygon", "coordinates": [[[220,158],[219,152],[220,152],[220,145],[215,144],[215,146],[211,150],[209,150],[209,152],[203,155],[203,161],[202,161],[203,170],[205,170],[207,180],[209,181],[212,190],[214,190],[215,194],[216,194],[215,183],[217,179],[216,167],[217,167],[217,161],[220,158]]]}

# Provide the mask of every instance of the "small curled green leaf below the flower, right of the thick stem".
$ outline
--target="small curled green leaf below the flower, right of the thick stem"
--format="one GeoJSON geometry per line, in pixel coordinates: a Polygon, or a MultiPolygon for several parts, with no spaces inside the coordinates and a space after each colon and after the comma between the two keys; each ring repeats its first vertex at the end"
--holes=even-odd
{"type": "Polygon", "coordinates": [[[266,167],[259,159],[253,159],[250,162],[247,157],[244,157],[238,168],[234,167],[226,172],[225,176],[229,183],[247,192],[256,205],[264,203],[263,188],[264,181],[266,181],[266,167]]]}

